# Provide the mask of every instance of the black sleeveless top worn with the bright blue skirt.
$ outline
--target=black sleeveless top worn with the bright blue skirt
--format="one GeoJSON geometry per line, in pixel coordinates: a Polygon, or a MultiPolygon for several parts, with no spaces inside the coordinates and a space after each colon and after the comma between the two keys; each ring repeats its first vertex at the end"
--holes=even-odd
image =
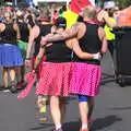
{"type": "Polygon", "coordinates": [[[0,44],[16,45],[16,31],[13,28],[13,23],[7,24],[5,29],[0,33],[0,44]]]}

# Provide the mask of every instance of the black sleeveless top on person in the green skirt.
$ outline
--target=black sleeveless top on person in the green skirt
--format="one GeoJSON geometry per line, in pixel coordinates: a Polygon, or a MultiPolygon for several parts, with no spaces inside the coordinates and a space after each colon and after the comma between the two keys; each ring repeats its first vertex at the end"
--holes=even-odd
{"type": "Polygon", "coordinates": [[[29,29],[27,27],[27,24],[25,22],[17,22],[20,34],[21,34],[21,40],[28,41],[29,36],[29,29]]]}

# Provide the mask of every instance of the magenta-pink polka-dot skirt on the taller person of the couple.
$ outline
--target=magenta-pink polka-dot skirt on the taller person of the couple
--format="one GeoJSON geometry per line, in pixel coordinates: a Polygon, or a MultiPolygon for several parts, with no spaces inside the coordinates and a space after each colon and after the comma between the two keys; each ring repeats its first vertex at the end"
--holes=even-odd
{"type": "Polygon", "coordinates": [[[100,66],[73,62],[70,94],[96,96],[99,93],[100,66]]]}

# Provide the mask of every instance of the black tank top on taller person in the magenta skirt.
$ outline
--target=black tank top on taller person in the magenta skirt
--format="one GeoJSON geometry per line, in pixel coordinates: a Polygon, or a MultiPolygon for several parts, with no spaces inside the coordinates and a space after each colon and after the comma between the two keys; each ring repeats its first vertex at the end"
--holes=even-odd
{"type": "MultiPolygon", "coordinates": [[[[84,23],[86,25],[86,32],[85,32],[85,35],[81,39],[79,39],[80,47],[85,52],[96,53],[100,51],[100,48],[102,48],[102,43],[98,37],[98,25],[90,24],[86,22],[84,23]]],[[[80,59],[75,53],[73,55],[73,61],[86,62],[91,64],[100,64],[100,61],[98,60],[80,59]]]]}

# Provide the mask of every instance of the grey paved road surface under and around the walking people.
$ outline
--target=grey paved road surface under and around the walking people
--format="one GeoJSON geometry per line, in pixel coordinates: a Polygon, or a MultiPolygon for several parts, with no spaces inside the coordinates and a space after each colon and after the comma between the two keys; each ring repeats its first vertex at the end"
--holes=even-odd
{"type": "MultiPolygon", "coordinates": [[[[49,121],[38,120],[35,87],[24,99],[17,94],[0,92],[0,131],[50,131],[49,121]]],[[[48,112],[49,115],[49,107],[48,112]]],[[[95,98],[93,131],[131,131],[131,86],[115,83],[112,61],[109,53],[103,60],[103,82],[99,96],[95,98]]],[[[71,97],[67,103],[66,131],[79,131],[78,102],[71,97]]]]}

